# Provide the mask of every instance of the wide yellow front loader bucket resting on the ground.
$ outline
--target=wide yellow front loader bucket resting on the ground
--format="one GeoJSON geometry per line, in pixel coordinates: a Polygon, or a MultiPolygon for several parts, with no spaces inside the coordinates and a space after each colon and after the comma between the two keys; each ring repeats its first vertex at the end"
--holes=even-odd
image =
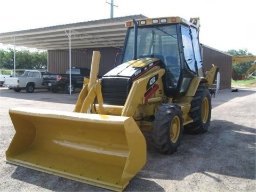
{"type": "Polygon", "coordinates": [[[20,107],[9,114],[16,133],[7,162],[116,191],[146,163],[132,117],[20,107]]]}

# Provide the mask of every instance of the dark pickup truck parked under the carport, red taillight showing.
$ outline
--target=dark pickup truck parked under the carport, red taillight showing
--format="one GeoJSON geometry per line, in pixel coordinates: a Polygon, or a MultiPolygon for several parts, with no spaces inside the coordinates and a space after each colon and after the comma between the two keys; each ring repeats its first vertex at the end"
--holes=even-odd
{"type": "MultiPolygon", "coordinates": [[[[74,93],[76,88],[82,89],[84,77],[90,77],[90,69],[87,68],[71,68],[71,93],[74,93]]],[[[69,68],[65,74],[44,74],[42,85],[46,86],[52,92],[65,91],[69,93],[69,68]]]]}

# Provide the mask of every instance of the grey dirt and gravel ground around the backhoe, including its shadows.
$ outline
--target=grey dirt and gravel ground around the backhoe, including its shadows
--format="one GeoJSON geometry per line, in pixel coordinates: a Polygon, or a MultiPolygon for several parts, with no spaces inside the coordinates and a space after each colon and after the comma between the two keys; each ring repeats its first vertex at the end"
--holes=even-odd
{"type": "MultiPolygon", "coordinates": [[[[108,191],[5,162],[14,135],[10,108],[73,111],[78,92],[0,90],[0,191],[108,191]]],[[[255,191],[255,109],[256,89],[219,90],[212,98],[209,130],[197,135],[184,133],[173,155],[159,154],[145,132],[147,163],[124,191],[255,191]]]]}

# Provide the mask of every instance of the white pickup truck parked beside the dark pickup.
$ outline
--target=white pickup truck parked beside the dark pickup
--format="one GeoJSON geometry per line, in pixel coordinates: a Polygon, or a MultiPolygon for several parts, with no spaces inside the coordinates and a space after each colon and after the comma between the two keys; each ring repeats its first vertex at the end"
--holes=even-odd
{"type": "Polygon", "coordinates": [[[46,87],[42,85],[43,74],[51,74],[46,71],[29,70],[26,75],[18,77],[5,78],[3,86],[13,89],[15,92],[26,90],[27,93],[33,93],[35,89],[46,87]]]}

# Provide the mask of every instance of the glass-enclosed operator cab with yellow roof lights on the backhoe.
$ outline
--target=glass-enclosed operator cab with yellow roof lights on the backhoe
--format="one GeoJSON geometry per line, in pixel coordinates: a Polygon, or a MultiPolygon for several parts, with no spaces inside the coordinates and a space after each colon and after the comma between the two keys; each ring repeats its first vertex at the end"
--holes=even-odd
{"type": "Polygon", "coordinates": [[[199,73],[203,70],[197,29],[183,25],[178,19],[181,18],[175,22],[169,22],[173,21],[171,18],[134,22],[135,27],[127,30],[120,60],[120,63],[146,57],[161,60],[165,93],[172,98],[185,94],[191,79],[203,75],[199,73]]]}

